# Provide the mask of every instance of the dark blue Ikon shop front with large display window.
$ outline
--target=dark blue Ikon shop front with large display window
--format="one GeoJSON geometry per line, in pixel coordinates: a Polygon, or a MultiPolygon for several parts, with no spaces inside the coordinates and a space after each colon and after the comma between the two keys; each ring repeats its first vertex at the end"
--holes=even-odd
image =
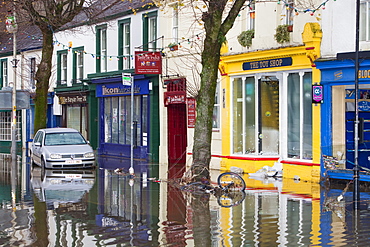
{"type": "Polygon", "coordinates": [[[134,146],[136,163],[150,160],[152,82],[144,75],[135,76],[133,81],[134,113],[131,119],[131,86],[123,85],[122,76],[91,80],[96,84],[96,97],[99,98],[98,154],[105,167],[111,166],[112,162],[117,167],[118,161],[121,163],[119,166],[129,167],[131,145],[134,146]],[[109,162],[112,159],[115,161],[109,162]]]}

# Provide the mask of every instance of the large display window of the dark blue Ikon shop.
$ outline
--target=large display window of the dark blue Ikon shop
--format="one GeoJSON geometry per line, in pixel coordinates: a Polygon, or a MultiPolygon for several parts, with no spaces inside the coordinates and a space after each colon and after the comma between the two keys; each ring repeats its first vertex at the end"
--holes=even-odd
{"type": "MultiPolygon", "coordinates": [[[[134,97],[134,143],[147,146],[148,109],[147,96],[134,97]]],[[[104,99],[105,142],[131,145],[131,97],[109,97],[104,99]]]]}

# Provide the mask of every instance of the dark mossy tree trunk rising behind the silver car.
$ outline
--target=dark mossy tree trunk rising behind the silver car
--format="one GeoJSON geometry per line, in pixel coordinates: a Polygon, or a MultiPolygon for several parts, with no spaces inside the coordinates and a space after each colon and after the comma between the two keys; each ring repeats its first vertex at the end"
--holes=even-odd
{"type": "Polygon", "coordinates": [[[42,31],[42,57],[35,75],[37,87],[35,97],[35,121],[34,131],[46,128],[49,79],[51,76],[51,63],[53,57],[53,32],[45,27],[42,31]]]}

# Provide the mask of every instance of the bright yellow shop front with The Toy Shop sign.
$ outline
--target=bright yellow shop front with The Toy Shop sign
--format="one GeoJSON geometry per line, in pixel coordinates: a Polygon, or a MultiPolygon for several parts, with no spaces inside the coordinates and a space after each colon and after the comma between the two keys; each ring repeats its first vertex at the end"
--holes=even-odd
{"type": "Polygon", "coordinates": [[[300,46],[222,57],[221,169],[255,173],[267,166],[286,178],[319,181],[319,30],[307,23],[300,46]]]}

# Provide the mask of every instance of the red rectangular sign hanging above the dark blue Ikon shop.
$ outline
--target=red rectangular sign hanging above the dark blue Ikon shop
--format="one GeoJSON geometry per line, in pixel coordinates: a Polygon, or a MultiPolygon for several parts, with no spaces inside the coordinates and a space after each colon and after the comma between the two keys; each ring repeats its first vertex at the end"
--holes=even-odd
{"type": "Polygon", "coordinates": [[[135,51],[135,74],[162,74],[161,53],[135,51]]]}

